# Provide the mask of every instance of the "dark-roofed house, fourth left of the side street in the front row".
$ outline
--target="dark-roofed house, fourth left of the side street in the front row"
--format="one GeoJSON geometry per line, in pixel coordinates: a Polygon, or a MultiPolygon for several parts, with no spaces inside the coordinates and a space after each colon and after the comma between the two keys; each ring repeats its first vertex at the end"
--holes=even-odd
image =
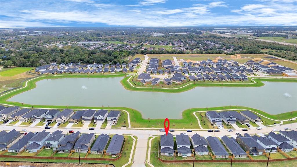
{"type": "Polygon", "coordinates": [[[66,135],[58,144],[58,153],[69,153],[75,142],[78,140],[79,134],[80,132],[77,131],[75,133],[71,133],[70,135],[66,135]]]}

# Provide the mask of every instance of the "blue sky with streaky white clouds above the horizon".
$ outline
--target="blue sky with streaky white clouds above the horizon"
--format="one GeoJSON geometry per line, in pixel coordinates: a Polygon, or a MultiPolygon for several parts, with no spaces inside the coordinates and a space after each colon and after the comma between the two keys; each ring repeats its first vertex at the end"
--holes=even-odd
{"type": "Polygon", "coordinates": [[[0,0],[0,27],[296,26],[297,0],[0,0]]]}

